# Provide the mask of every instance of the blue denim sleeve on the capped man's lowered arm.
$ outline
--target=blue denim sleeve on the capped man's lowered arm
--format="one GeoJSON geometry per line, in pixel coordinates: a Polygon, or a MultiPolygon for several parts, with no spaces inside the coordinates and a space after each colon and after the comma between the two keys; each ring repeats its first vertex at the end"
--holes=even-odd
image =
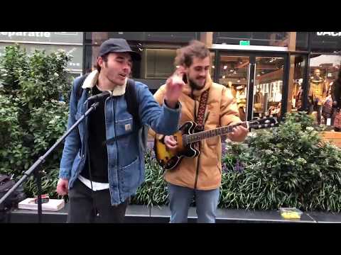
{"type": "MultiPolygon", "coordinates": [[[[78,79],[75,79],[72,86],[71,96],[70,96],[70,108],[69,117],[67,120],[67,130],[69,130],[73,124],[76,122],[75,115],[77,113],[77,98],[76,98],[76,86],[78,79]]],[[[70,132],[65,138],[65,145],[63,149],[62,159],[60,161],[60,171],[59,178],[70,179],[71,169],[73,161],[80,149],[80,134],[78,129],[75,128],[70,132]]]]}

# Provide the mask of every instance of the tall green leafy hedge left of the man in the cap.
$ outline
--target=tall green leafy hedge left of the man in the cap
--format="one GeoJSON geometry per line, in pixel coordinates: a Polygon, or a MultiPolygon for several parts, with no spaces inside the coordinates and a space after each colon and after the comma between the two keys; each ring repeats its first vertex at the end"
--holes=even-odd
{"type": "MultiPolygon", "coordinates": [[[[31,55],[19,45],[8,46],[0,58],[0,173],[18,180],[38,157],[65,132],[71,79],[62,50],[31,55]],[[60,97],[66,102],[58,101],[60,97]]],[[[58,167],[63,147],[58,147],[43,169],[43,192],[56,197],[58,167]]],[[[24,185],[36,194],[33,177],[24,185]]]]}

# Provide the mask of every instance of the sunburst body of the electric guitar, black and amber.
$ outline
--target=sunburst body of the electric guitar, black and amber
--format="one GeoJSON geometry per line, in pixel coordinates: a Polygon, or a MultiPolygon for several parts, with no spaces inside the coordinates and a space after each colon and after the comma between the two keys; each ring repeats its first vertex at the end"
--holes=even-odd
{"type": "Polygon", "coordinates": [[[178,146],[175,149],[168,149],[163,142],[163,137],[158,138],[156,135],[154,150],[156,159],[163,169],[174,169],[175,166],[180,164],[183,157],[197,157],[200,154],[200,151],[195,148],[195,143],[185,145],[183,141],[183,135],[193,134],[196,127],[196,123],[188,121],[179,128],[179,131],[173,135],[175,141],[178,142],[178,146]]]}

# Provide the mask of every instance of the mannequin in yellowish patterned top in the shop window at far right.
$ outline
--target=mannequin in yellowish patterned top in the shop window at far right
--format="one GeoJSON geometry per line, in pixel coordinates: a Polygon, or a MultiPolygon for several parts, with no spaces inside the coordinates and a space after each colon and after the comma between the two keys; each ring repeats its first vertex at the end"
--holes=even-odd
{"type": "Polygon", "coordinates": [[[313,111],[318,112],[318,124],[321,123],[321,113],[322,113],[322,106],[325,103],[325,98],[327,96],[327,88],[325,86],[325,79],[320,77],[320,69],[315,69],[313,78],[310,79],[310,90],[308,96],[308,114],[313,113],[313,111]]]}

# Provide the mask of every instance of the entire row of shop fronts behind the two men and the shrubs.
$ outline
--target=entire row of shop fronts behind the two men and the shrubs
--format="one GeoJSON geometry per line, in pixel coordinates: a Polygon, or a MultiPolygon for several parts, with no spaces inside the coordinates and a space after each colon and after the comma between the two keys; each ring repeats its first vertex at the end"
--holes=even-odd
{"type": "Polygon", "coordinates": [[[311,107],[310,88],[323,82],[325,101],[341,62],[341,32],[0,32],[0,54],[13,42],[29,51],[62,48],[74,56],[70,74],[79,76],[95,68],[99,45],[109,38],[125,38],[141,52],[131,77],[152,93],[174,72],[179,47],[193,39],[205,42],[212,79],[231,89],[243,120],[290,111],[318,118],[321,109],[311,107]]]}

